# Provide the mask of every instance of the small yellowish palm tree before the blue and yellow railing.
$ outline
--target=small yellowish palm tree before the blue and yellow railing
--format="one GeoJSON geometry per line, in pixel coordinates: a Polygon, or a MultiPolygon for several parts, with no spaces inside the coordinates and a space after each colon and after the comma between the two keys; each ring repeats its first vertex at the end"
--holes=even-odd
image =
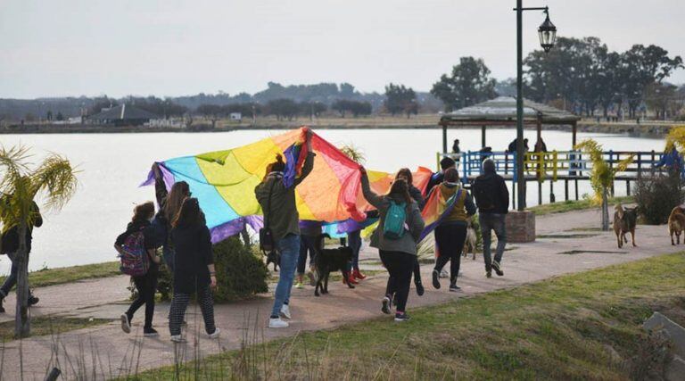
{"type": "Polygon", "coordinates": [[[628,165],[631,164],[633,156],[623,159],[615,167],[610,167],[604,161],[602,155],[602,145],[598,144],[593,139],[585,139],[574,147],[576,150],[582,150],[590,155],[590,162],[592,163],[592,170],[590,172],[590,185],[595,191],[593,203],[602,205],[602,230],[609,229],[609,200],[608,189],[614,182],[616,172],[622,172],[628,165]]]}

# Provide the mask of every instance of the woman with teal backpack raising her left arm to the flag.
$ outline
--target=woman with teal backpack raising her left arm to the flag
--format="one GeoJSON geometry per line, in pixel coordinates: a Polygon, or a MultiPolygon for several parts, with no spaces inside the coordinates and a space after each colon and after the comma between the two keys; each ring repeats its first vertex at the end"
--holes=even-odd
{"type": "Polygon", "coordinates": [[[406,181],[397,179],[392,183],[387,195],[376,195],[368,182],[367,171],[361,172],[361,190],[368,203],[376,207],[380,214],[376,230],[377,247],[385,269],[388,270],[388,284],[381,311],[391,313],[392,292],[397,302],[395,321],[407,321],[407,298],[411,272],[417,257],[418,237],[424,230],[424,219],[417,203],[409,195],[406,181]]]}

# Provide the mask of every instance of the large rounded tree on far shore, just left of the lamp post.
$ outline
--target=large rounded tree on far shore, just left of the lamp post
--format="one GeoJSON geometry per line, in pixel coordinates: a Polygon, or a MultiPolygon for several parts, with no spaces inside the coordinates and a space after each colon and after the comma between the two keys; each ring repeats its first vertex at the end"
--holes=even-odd
{"type": "Polygon", "coordinates": [[[482,58],[461,57],[450,76],[442,74],[433,84],[431,94],[440,98],[445,109],[451,111],[494,98],[495,84],[482,58]]]}

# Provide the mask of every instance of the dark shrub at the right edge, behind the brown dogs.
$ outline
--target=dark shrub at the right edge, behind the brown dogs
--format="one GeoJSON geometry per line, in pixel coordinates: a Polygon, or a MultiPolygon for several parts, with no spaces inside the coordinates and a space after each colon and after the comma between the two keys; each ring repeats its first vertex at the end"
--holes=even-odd
{"type": "Polygon", "coordinates": [[[673,207],[683,201],[680,173],[673,170],[641,173],[635,189],[635,201],[645,223],[666,223],[673,207]]]}

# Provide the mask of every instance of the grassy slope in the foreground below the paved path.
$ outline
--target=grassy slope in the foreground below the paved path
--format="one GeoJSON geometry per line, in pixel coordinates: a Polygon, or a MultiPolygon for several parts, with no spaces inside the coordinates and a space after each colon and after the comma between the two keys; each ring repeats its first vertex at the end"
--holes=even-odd
{"type": "Polygon", "coordinates": [[[138,379],[645,379],[668,345],[640,324],[653,311],[685,323],[683,273],[675,253],[412,310],[402,324],[384,316],[266,344],[255,329],[240,351],[138,379]]]}

